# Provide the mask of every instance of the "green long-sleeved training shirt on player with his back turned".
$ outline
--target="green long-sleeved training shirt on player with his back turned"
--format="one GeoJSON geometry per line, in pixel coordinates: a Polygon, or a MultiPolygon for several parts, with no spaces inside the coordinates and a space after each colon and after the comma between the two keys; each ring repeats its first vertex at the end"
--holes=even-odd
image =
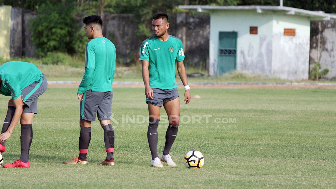
{"type": "Polygon", "coordinates": [[[116,70],[116,47],[107,38],[94,38],[85,47],[85,73],[78,94],[86,90],[112,91],[116,70]]]}

